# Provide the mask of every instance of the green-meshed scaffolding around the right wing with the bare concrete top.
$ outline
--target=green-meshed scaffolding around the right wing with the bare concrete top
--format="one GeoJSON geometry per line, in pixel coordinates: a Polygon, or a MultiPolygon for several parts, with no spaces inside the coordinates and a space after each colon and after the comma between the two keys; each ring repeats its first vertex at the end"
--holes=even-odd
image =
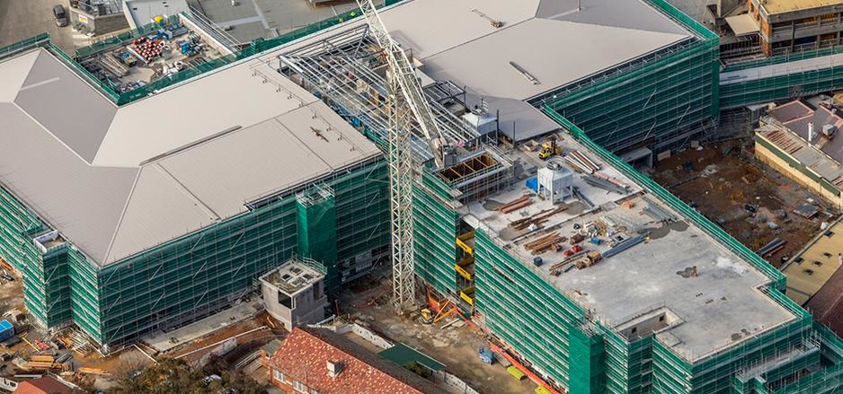
{"type": "MultiPolygon", "coordinates": [[[[622,162],[617,156],[609,153],[608,150],[590,141],[588,136],[574,126],[566,118],[559,116],[553,109],[546,108],[545,112],[554,118],[561,126],[572,134],[581,144],[590,147],[599,156],[610,162],[623,172],[628,178],[636,181],[641,187],[648,192],[661,197],[661,199],[677,210],[679,214],[683,215],[686,220],[691,223],[696,223],[697,226],[708,232],[714,240],[721,242],[728,249],[741,255],[742,258],[750,262],[759,271],[764,272],[770,278],[768,285],[764,285],[760,290],[767,294],[768,297],[776,302],[781,307],[790,311],[794,315],[794,320],[789,320],[779,327],[770,328],[763,333],[747,338],[741,341],[740,344],[734,346],[725,346],[720,349],[714,349],[706,355],[688,356],[679,355],[672,350],[669,343],[666,343],[658,336],[650,335],[634,340],[629,340],[617,335],[612,329],[604,327],[599,321],[595,322],[596,328],[593,329],[592,336],[594,338],[590,345],[601,343],[603,346],[603,367],[605,368],[605,390],[607,392],[694,392],[694,393],[720,393],[720,392],[769,392],[769,393],[823,393],[835,392],[840,385],[841,370],[843,370],[843,358],[841,358],[841,351],[843,347],[838,337],[835,337],[828,329],[819,328],[812,321],[811,315],[796,305],[793,301],[785,297],[782,293],[782,286],[784,285],[784,276],[776,269],[770,267],[767,262],[758,258],[758,256],[746,250],[740,243],[732,240],[725,232],[719,230],[716,226],[705,223],[705,218],[697,217],[696,211],[688,208],[679,199],[671,196],[663,190],[652,179],[646,178],[634,168],[622,162]],[[819,350],[818,350],[819,349],[819,350]],[[693,361],[689,361],[693,360],[693,361]],[[737,391],[734,391],[737,390],[737,391]]],[[[515,285],[522,285],[520,281],[532,280],[529,276],[537,276],[535,273],[525,268],[527,265],[519,263],[515,258],[511,258],[509,253],[503,251],[496,245],[489,245],[488,239],[482,232],[478,232],[479,236],[477,246],[477,305],[480,311],[486,316],[487,324],[490,328],[495,325],[501,325],[501,329],[509,330],[505,335],[501,335],[496,331],[501,338],[507,341],[511,346],[516,348],[521,354],[526,355],[530,360],[534,360],[534,355],[542,357],[540,353],[534,353],[536,350],[524,338],[512,338],[515,333],[529,332],[529,329],[515,329],[515,327],[507,327],[496,319],[506,319],[507,313],[518,314],[524,308],[517,308],[514,305],[508,305],[507,302],[494,301],[490,298],[496,297],[512,297],[513,294],[505,293],[502,287],[508,286],[506,283],[497,283],[495,276],[503,276],[506,282],[515,285]],[[484,257],[485,250],[492,248],[495,253],[491,257],[484,257]],[[491,259],[491,264],[487,260],[491,259]],[[500,267],[499,262],[510,261],[513,265],[519,267],[500,267]],[[492,272],[484,267],[492,266],[492,272]],[[510,272],[507,272],[507,271],[510,272]],[[492,282],[491,285],[487,281],[492,282]],[[499,293],[503,291],[504,293],[499,293]],[[489,311],[501,309],[505,311],[489,311]],[[513,341],[514,342],[510,342],[513,341]]],[[[535,280],[541,280],[536,278],[535,280]]],[[[554,289],[555,290],[555,289],[554,289]]],[[[524,300],[524,295],[527,292],[521,292],[519,300],[524,300]]],[[[559,297],[563,301],[570,302],[570,300],[559,291],[545,292],[553,294],[554,297],[559,297]]],[[[534,302],[531,299],[528,302],[534,302]]],[[[542,300],[542,302],[546,302],[542,300]]],[[[532,303],[531,303],[532,306],[532,303]]],[[[530,309],[529,311],[533,311],[530,309]]],[[[541,311],[538,307],[537,311],[541,311]]],[[[585,311],[581,309],[581,311],[585,311]]],[[[529,324],[531,320],[537,319],[534,313],[529,313],[527,316],[517,319],[518,324],[529,324]]],[[[584,314],[581,318],[570,320],[567,326],[563,326],[566,333],[571,332],[572,323],[579,326],[588,324],[588,314],[584,314]],[[583,321],[585,320],[585,321],[583,321]]],[[[563,328],[553,327],[558,333],[555,337],[561,336],[563,328]]],[[[528,327],[528,326],[527,326],[528,327]]],[[[588,332],[588,331],[584,331],[588,332]]],[[[542,333],[546,336],[547,333],[542,333]]],[[[569,337],[571,337],[569,335],[569,337]]],[[[574,337],[577,337],[576,335],[574,337]]],[[[540,345],[547,346],[544,341],[538,341],[540,345]]],[[[585,360],[582,354],[574,352],[572,344],[568,344],[568,353],[563,352],[561,342],[554,341],[552,346],[556,346],[556,356],[569,354],[571,360],[576,357],[577,360],[585,360]]],[[[586,352],[586,347],[583,345],[585,341],[579,337],[579,344],[577,352],[586,352]]],[[[598,355],[598,349],[591,349],[586,354],[598,355]]],[[[572,363],[569,361],[568,363],[572,363]]],[[[580,361],[582,363],[582,361],[580,361]]],[[[545,370],[546,371],[546,370],[545,370]]],[[[589,392],[589,390],[596,390],[596,386],[591,386],[590,389],[583,387],[584,377],[572,379],[572,375],[563,374],[556,371],[556,375],[551,374],[554,380],[565,385],[571,392],[589,392]],[[576,385],[574,383],[577,382],[576,385]]],[[[599,386],[599,377],[590,376],[591,382],[599,386]]],[[[600,386],[602,387],[602,386],[600,386]]]]}

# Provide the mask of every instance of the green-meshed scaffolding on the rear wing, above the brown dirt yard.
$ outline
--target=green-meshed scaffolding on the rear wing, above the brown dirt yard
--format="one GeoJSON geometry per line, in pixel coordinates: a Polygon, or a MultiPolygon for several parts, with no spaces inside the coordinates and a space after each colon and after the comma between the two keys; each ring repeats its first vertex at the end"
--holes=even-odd
{"type": "Polygon", "coordinates": [[[612,152],[641,146],[661,151],[712,132],[719,113],[720,40],[672,5],[650,3],[694,36],[530,102],[554,109],[612,152]]]}

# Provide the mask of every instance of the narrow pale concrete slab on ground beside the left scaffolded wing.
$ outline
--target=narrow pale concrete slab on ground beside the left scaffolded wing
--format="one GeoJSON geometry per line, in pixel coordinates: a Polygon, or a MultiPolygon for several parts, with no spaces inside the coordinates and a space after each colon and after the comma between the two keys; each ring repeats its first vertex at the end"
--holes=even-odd
{"type": "Polygon", "coordinates": [[[241,303],[205,319],[195,321],[182,328],[170,332],[158,331],[157,333],[142,338],[147,345],[152,346],[159,352],[166,352],[173,347],[180,346],[185,342],[205,337],[221,328],[226,328],[238,321],[252,318],[260,311],[260,302],[241,303]]]}

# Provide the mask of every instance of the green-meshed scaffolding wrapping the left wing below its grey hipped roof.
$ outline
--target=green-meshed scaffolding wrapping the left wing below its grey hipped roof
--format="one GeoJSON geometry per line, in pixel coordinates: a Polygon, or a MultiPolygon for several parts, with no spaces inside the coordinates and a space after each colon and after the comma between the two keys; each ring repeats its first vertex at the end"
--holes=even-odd
{"type": "Polygon", "coordinates": [[[106,267],[0,190],[0,257],[22,271],[36,320],[75,323],[107,349],[239,302],[294,254],[324,264],[329,294],[365,275],[389,256],[387,179],[381,158],[359,162],[106,267]]]}

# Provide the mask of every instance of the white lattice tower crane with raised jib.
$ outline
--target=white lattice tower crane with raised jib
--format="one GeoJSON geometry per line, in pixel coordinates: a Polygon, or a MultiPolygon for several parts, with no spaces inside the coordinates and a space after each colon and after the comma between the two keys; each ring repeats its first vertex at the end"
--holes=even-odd
{"type": "Polygon", "coordinates": [[[388,66],[389,109],[389,192],[392,220],[393,301],[395,311],[404,312],[413,304],[413,122],[422,129],[437,167],[444,166],[449,151],[433,112],[422,92],[413,63],[386,31],[372,0],[357,0],[369,31],[384,51],[388,66]]]}

